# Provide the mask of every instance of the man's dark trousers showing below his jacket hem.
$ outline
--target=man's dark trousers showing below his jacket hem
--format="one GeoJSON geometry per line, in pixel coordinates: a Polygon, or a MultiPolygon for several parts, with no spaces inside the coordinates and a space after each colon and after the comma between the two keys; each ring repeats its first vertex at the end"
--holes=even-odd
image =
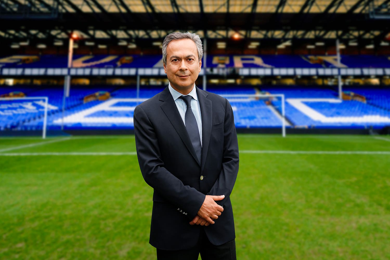
{"type": "Polygon", "coordinates": [[[233,239],[220,246],[211,244],[203,230],[200,231],[197,245],[185,250],[161,250],[157,249],[157,260],[236,260],[236,241],[233,239]]]}

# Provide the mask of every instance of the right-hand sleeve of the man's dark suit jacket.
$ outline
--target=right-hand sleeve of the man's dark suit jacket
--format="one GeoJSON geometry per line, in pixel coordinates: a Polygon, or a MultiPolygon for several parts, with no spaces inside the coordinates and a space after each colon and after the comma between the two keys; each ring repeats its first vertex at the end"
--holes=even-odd
{"type": "Polygon", "coordinates": [[[222,170],[210,192],[207,193],[207,195],[225,195],[223,200],[216,201],[219,205],[224,205],[230,199],[230,194],[237,179],[239,165],[238,141],[233,110],[229,101],[227,99],[225,101],[222,170]]]}

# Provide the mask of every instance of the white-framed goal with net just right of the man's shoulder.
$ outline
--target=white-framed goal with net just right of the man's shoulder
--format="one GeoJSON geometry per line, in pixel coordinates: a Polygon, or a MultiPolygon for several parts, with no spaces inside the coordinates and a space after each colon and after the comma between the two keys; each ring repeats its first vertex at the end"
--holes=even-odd
{"type": "MultiPolygon", "coordinates": [[[[286,134],[284,94],[219,94],[229,100],[236,128],[280,129],[286,134]]],[[[269,131],[272,133],[272,131],[269,131]]]]}

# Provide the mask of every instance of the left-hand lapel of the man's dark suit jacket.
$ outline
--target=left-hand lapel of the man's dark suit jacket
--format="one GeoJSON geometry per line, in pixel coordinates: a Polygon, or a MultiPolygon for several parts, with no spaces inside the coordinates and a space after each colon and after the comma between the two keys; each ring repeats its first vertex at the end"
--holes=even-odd
{"type": "Polygon", "coordinates": [[[183,140],[183,143],[186,145],[187,149],[192,154],[192,157],[194,157],[195,161],[197,161],[197,163],[200,165],[195,150],[192,147],[190,136],[188,136],[187,129],[184,126],[183,120],[181,119],[179,111],[177,110],[176,103],[173,100],[173,97],[170,94],[168,87],[166,87],[163,92],[161,92],[160,101],[164,101],[160,106],[161,109],[164,111],[165,115],[167,115],[168,120],[175,128],[176,132],[179,134],[181,140],[183,140]]]}

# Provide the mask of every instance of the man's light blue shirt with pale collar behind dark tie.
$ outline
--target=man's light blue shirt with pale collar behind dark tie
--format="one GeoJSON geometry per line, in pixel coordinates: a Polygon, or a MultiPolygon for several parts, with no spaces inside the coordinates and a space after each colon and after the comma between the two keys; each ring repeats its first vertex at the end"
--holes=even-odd
{"type": "Polygon", "coordinates": [[[192,97],[191,109],[192,109],[192,113],[195,116],[196,122],[198,124],[200,145],[202,145],[202,115],[200,114],[199,99],[198,99],[198,95],[196,93],[195,85],[194,85],[194,88],[191,90],[191,92],[188,93],[188,95],[183,95],[183,94],[177,92],[176,90],[174,90],[174,88],[171,87],[170,83],[168,85],[168,88],[169,88],[169,92],[171,93],[171,95],[173,97],[173,100],[175,101],[175,104],[177,106],[177,110],[179,110],[179,114],[181,116],[181,119],[183,120],[184,126],[186,125],[185,116],[186,116],[186,111],[187,111],[187,104],[183,99],[180,99],[179,97],[180,96],[191,96],[192,97]]]}

